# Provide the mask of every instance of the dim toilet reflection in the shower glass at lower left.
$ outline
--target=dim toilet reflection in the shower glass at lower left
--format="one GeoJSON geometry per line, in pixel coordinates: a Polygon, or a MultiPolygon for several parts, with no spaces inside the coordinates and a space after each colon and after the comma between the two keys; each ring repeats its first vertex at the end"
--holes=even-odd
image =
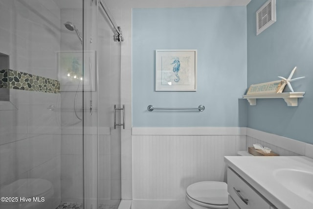
{"type": "Polygon", "coordinates": [[[1,202],[1,209],[44,209],[51,206],[53,185],[45,179],[19,179],[0,187],[1,197],[17,197],[16,202],[1,202]],[[20,199],[24,198],[24,199],[20,199]],[[29,199],[31,201],[25,201],[29,199]],[[34,199],[35,198],[35,199],[34,199]],[[42,199],[44,198],[44,199],[42,199]]]}

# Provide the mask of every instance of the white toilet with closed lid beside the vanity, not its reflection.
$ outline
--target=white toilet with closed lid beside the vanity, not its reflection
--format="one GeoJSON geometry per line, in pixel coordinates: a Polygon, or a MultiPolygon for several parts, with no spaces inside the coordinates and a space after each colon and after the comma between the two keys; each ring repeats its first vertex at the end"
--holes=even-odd
{"type": "MultiPolygon", "coordinates": [[[[239,151],[239,156],[252,156],[239,151]]],[[[197,182],[187,187],[186,203],[192,209],[228,209],[227,184],[224,182],[197,182]]]]}

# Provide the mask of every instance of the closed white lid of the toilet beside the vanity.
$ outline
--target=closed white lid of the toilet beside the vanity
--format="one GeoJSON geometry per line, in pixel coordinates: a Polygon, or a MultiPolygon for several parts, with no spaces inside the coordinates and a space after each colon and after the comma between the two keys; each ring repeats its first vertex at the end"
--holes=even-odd
{"type": "Polygon", "coordinates": [[[224,182],[198,182],[187,187],[192,199],[211,205],[227,205],[227,184],[224,182]]]}

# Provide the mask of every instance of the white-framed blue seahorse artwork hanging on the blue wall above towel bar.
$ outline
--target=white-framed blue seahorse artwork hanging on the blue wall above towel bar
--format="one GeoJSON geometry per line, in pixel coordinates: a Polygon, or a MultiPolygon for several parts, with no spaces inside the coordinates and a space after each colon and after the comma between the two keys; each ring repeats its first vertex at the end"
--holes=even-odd
{"type": "Polygon", "coordinates": [[[156,91],[197,91],[197,49],[156,50],[156,91]]]}

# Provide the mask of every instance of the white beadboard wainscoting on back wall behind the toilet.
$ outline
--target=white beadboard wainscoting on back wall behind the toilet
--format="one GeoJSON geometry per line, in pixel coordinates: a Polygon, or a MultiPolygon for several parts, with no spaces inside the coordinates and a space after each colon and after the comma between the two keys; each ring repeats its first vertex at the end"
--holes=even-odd
{"type": "Polygon", "coordinates": [[[245,135],[133,135],[133,199],[182,200],[195,182],[224,181],[224,156],[245,144],[245,135]]]}

